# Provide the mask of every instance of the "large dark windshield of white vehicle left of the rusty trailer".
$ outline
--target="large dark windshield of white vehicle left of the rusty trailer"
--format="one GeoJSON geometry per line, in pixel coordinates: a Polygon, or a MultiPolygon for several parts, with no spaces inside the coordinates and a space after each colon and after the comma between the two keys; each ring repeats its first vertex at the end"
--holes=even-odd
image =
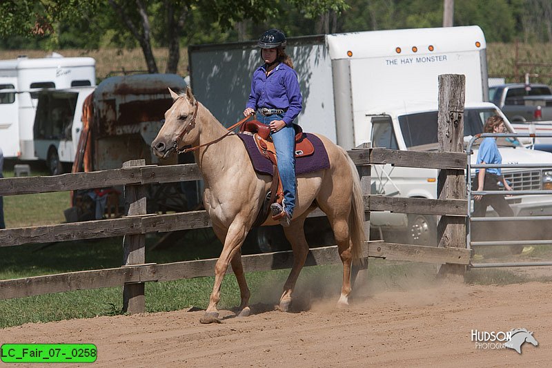
{"type": "Polygon", "coordinates": [[[78,93],[43,91],[38,93],[34,118],[35,139],[71,139],[78,93]]]}

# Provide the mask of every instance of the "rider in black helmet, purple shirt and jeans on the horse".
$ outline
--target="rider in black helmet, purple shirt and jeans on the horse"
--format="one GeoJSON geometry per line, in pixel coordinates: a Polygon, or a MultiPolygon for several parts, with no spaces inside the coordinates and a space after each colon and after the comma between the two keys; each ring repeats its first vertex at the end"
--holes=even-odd
{"type": "Polygon", "coordinates": [[[273,218],[283,226],[289,226],[295,207],[295,129],[293,120],[302,109],[297,72],[284,51],[286,36],[277,29],[264,32],[259,39],[264,61],[251,79],[251,93],[244,110],[248,116],[257,110],[257,120],[270,126],[270,136],[276,148],[278,172],[284,189],[283,207],[270,206],[273,218]]]}

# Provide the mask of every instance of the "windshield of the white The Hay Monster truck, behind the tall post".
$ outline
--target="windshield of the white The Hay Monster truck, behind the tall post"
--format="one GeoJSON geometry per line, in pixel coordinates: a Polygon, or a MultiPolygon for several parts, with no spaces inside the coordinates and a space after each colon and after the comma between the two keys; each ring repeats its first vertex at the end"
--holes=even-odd
{"type": "MultiPolygon", "coordinates": [[[[496,110],[492,108],[464,110],[464,137],[483,133],[486,119],[493,115],[496,110]]],[[[437,111],[402,115],[399,124],[407,148],[438,142],[437,111]]]]}

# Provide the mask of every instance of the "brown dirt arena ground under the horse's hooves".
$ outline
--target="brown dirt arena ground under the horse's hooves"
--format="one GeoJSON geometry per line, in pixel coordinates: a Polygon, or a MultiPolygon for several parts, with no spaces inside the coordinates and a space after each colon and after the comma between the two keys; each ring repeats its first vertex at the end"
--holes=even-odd
{"type": "Polygon", "coordinates": [[[94,343],[99,358],[83,367],[546,366],[552,360],[551,286],[371,291],[348,310],[333,308],[337,298],[314,300],[295,313],[255,304],[248,318],[223,311],[221,323],[212,325],[199,323],[203,311],[66,320],[3,329],[0,342],[94,343]],[[518,327],[533,331],[538,347],[526,342],[517,354],[476,349],[471,341],[473,329],[518,327]]]}

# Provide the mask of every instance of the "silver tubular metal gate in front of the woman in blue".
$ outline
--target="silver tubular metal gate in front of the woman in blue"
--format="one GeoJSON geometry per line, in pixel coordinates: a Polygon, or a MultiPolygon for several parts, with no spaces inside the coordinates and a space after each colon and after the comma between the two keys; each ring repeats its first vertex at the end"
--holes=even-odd
{"type": "MultiPolygon", "coordinates": [[[[468,249],[477,246],[526,246],[526,245],[552,245],[552,236],[550,239],[538,239],[538,240],[485,240],[485,241],[472,241],[472,229],[473,223],[499,223],[499,222],[515,222],[519,223],[519,226],[524,226],[531,222],[542,222],[542,226],[546,226],[546,221],[552,220],[552,212],[544,215],[520,215],[513,217],[473,217],[472,215],[472,199],[473,195],[504,195],[504,190],[498,191],[472,191],[472,168],[506,168],[509,171],[503,172],[504,178],[509,180],[513,191],[508,191],[508,195],[526,196],[526,195],[552,195],[552,182],[550,184],[543,183],[543,175],[547,171],[546,169],[552,169],[552,162],[548,164],[471,164],[471,155],[473,154],[472,146],[479,138],[496,137],[496,138],[523,138],[523,137],[552,137],[552,134],[529,134],[529,133],[482,133],[472,137],[466,148],[467,153],[467,200],[468,200],[468,216],[466,222],[466,244],[468,249]],[[523,170],[512,170],[523,169],[523,170]]],[[[517,141],[519,143],[519,141],[517,141]]],[[[549,175],[549,173],[546,173],[549,175]]],[[[517,197],[521,198],[521,197],[517,197]]],[[[551,202],[552,211],[552,196],[549,198],[551,202]]],[[[521,203],[522,199],[517,203],[521,203]]],[[[549,226],[552,227],[552,226],[549,226]]],[[[486,268],[486,267],[528,267],[528,266],[552,266],[552,262],[497,262],[497,263],[475,263],[470,264],[470,268],[486,268]]]]}

